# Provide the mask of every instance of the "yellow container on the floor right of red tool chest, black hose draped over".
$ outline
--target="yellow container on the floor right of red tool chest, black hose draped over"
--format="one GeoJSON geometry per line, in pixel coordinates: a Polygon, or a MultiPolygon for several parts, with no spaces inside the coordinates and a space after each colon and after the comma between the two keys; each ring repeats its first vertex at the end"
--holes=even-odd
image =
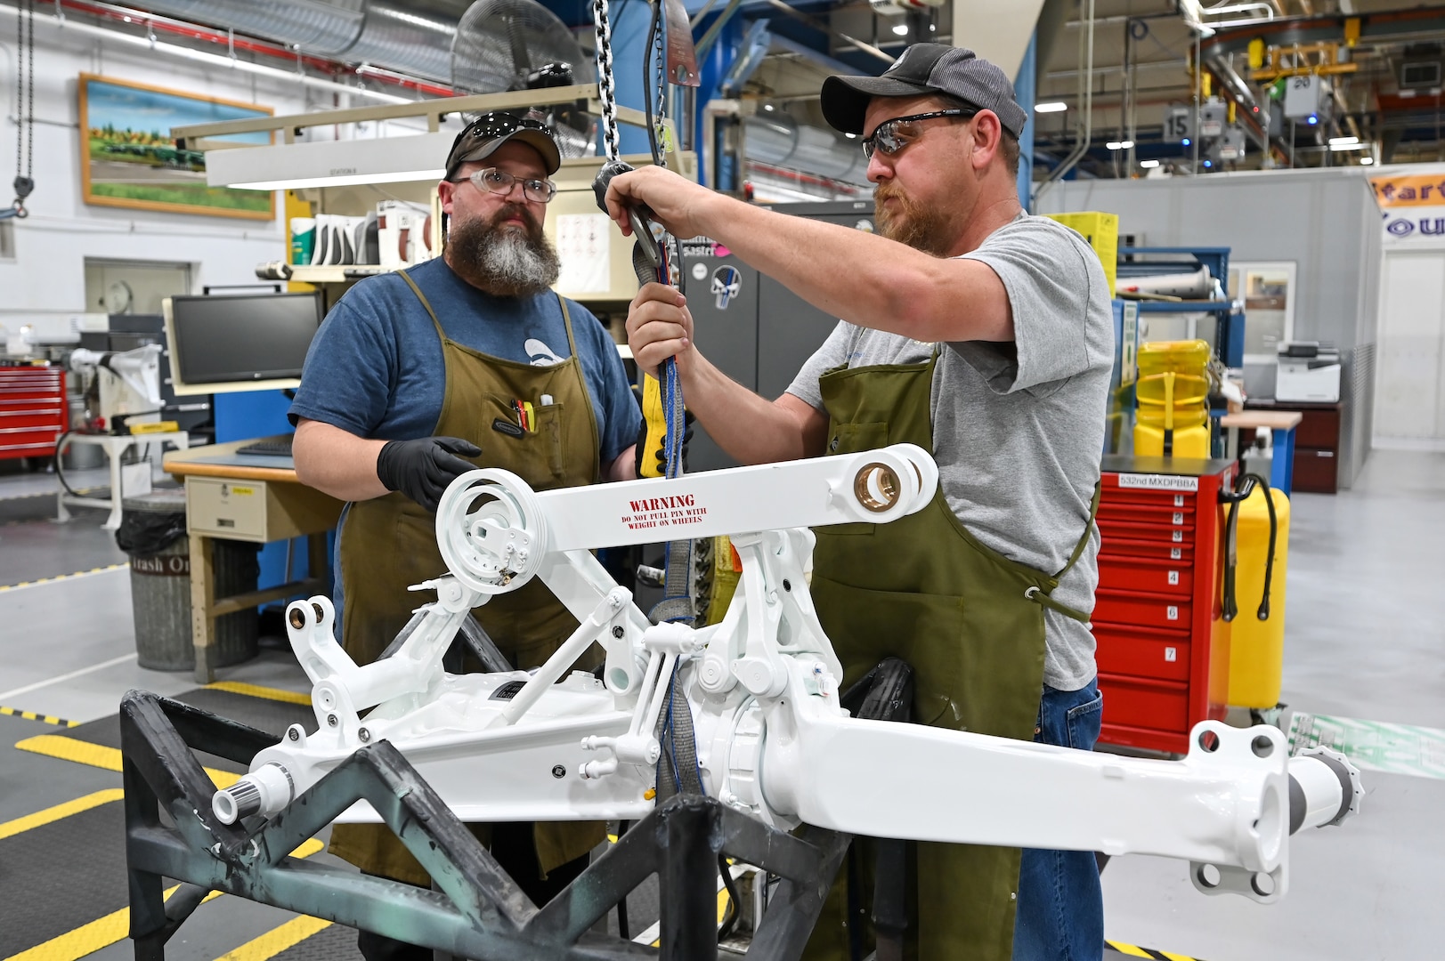
{"type": "Polygon", "coordinates": [[[1289,562],[1289,497],[1272,490],[1274,517],[1274,571],[1270,575],[1269,620],[1259,619],[1264,595],[1264,558],[1269,555],[1269,509],[1264,490],[1240,504],[1235,526],[1237,565],[1234,597],[1238,616],[1230,623],[1230,697],[1244,708],[1272,708],[1279,704],[1280,675],[1285,669],[1285,574],[1289,562]]]}

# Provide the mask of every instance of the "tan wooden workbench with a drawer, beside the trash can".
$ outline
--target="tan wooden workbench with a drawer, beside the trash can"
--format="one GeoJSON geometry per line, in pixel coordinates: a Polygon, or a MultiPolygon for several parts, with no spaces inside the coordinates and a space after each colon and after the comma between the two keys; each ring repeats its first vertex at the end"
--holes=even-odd
{"type": "MultiPolygon", "coordinates": [[[[283,439],[283,438],[264,438],[283,439]]],[[[215,679],[215,619],[295,594],[331,590],[327,532],[337,526],[342,501],[296,480],[289,457],[237,454],[256,439],[214,444],[165,457],[165,470],[185,481],[186,533],[191,535],[191,640],[195,679],[215,679]],[[262,591],[215,597],[212,540],[269,543],[306,538],[308,577],[262,591]]]]}

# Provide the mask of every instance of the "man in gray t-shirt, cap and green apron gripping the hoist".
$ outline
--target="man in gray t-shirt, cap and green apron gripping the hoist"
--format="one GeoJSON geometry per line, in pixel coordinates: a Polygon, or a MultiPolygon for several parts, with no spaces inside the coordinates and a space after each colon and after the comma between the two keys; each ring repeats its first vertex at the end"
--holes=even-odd
{"type": "MultiPolygon", "coordinates": [[[[816,530],[811,591],[844,684],[902,658],[915,723],[1092,749],[1103,702],[1090,520],[1113,361],[1104,272],[1078,234],[1022,212],[1027,116],[971,51],[913,45],[881,77],[828,78],[821,105],[861,136],[880,236],[741,204],[660,168],[616,176],[607,207],[624,233],[626,208],[644,204],[678,237],[724,243],[842,318],[832,335],[769,402],[694,348],[676,289],[646,285],[627,318],[633,355],[649,371],[673,357],[689,409],[743,462],[929,448],[941,483],[923,512],[816,530]]],[[[1090,853],[919,843],[916,877],[922,958],[1103,957],[1090,853]]],[[[834,908],[844,900],[835,887],[834,908]]],[[[806,957],[848,957],[847,925],[825,910],[806,957]]]]}

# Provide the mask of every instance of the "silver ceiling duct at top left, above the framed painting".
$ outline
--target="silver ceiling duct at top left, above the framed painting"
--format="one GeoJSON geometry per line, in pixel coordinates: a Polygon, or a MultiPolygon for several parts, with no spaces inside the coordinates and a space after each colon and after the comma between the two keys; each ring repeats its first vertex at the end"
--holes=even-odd
{"type": "Polygon", "coordinates": [[[451,82],[457,25],[374,0],[150,0],[153,13],[451,82]]]}

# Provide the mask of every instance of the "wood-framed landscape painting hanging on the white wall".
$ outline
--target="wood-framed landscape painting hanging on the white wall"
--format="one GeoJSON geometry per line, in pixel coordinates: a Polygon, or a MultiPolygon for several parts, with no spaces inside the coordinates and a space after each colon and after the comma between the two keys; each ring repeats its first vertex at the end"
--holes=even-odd
{"type": "MultiPolygon", "coordinates": [[[[205,155],[179,150],[172,127],[269,117],[270,107],[197,97],[81,74],[81,185],[87,204],[210,217],[275,220],[276,195],[205,182],[205,155]]],[[[270,132],[224,137],[270,143],[270,132]]]]}

